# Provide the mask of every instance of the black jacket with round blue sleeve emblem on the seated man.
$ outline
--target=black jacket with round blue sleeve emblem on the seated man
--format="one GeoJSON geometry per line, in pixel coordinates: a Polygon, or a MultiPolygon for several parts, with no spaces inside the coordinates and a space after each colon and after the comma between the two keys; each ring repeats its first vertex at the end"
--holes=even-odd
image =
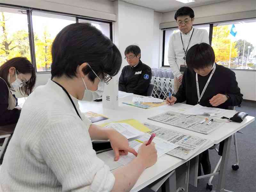
{"type": "Polygon", "coordinates": [[[146,96],[151,76],[151,68],[142,63],[141,60],[135,67],[127,65],[122,69],[119,77],[119,91],[146,96]]]}

